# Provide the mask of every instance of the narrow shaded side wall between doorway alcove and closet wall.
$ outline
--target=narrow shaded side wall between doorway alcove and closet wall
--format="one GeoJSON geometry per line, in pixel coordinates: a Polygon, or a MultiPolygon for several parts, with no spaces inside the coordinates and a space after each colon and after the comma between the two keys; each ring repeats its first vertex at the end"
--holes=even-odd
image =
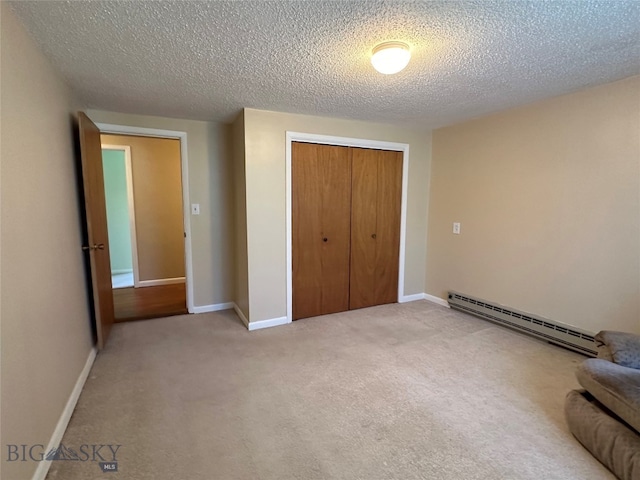
{"type": "Polygon", "coordinates": [[[235,186],[235,296],[234,302],[249,318],[249,268],[247,254],[247,191],[245,174],[244,112],[240,112],[232,125],[233,169],[235,186]]]}

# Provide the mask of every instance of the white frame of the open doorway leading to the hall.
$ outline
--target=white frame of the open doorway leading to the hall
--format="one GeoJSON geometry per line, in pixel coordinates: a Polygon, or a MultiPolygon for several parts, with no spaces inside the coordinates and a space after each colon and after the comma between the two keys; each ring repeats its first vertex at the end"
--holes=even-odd
{"type": "Polygon", "coordinates": [[[191,210],[189,208],[189,161],[187,155],[187,132],[161,130],[157,128],[132,127],[96,123],[100,133],[115,135],[137,135],[140,137],[173,138],[180,140],[180,166],[182,170],[182,218],[184,228],[185,283],[187,290],[187,311],[193,313],[193,260],[191,254],[191,210]]]}

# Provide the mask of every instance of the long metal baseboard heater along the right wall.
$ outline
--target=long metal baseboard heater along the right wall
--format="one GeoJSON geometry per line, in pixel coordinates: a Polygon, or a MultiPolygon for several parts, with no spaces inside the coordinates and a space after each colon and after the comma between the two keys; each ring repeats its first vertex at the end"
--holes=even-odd
{"type": "Polygon", "coordinates": [[[458,292],[449,292],[449,305],[456,310],[534,335],[585,355],[595,357],[598,354],[593,334],[570,325],[552,322],[537,315],[519,312],[458,292]]]}

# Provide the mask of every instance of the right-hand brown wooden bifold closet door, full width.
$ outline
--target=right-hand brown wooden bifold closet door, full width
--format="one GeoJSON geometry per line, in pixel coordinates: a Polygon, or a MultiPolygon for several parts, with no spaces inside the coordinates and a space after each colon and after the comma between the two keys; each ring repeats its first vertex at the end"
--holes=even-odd
{"type": "Polygon", "coordinates": [[[352,148],[349,308],[398,301],[402,152],[352,148]]]}

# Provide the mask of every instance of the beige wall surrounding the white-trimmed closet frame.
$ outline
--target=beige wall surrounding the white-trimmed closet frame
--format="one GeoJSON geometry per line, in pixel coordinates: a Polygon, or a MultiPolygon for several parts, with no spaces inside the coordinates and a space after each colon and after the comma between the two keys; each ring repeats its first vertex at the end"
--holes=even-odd
{"type": "Polygon", "coordinates": [[[253,109],[244,122],[250,321],[286,316],[286,131],[410,145],[404,294],[424,292],[429,131],[253,109]]]}

